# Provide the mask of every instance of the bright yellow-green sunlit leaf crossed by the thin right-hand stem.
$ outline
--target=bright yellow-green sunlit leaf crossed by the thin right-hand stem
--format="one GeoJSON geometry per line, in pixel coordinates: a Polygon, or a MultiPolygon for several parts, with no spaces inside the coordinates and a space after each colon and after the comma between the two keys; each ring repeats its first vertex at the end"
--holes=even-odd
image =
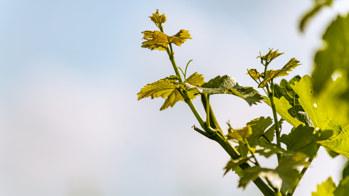
{"type": "MultiPolygon", "coordinates": [[[[270,99],[268,97],[264,97],[265,102],[271,107],[270,99]]],[[[274,97],[275,109],[280,116],[285,119],[288,123],[290,123],[294,127],[298,127],[298,125],[305,125],[304,122],[301,122],[295,119],[289,111],[292,110],[292,106],[288,103],[285,97],[281,97],[280,100],[274,97]]]]}

